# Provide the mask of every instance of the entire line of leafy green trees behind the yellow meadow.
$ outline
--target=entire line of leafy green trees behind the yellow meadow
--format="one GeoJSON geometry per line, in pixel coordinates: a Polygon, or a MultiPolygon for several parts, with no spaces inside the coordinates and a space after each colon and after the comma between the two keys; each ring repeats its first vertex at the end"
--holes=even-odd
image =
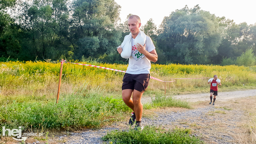
{"type": "MultiPolygon", "coordinates": [[[[120,9],[114,0],[3,0],[0,56],[127,63],[116,51],[130,33],[120,9]]],[[[159,28],[149,19],[141,30],[155,44],[157,64],[255,64],[256,23],[236,24],[198,5],[177,9],[159,28]]]]}

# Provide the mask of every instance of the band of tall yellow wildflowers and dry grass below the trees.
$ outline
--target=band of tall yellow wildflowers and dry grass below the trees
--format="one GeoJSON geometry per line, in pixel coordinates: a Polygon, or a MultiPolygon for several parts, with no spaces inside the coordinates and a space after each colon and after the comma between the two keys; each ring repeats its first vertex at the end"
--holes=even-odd
{"type": "MultiPolygon", "coordinates": [[[[90,64],[87,62],[71,61],[75,63],[90,64]]],[[[126,70],[127,65],[93,63],[94,65],[126,70]]],[[[60,63],[47,62],[0,62],[0,104],[7,100],[30,99],[54,99],[57,95],[60,63]]],[[[202,78],[218,75],[221,79],[221,90],[255,88],[255,66],[213,66],[213,65],[157,65],[153,64],[151,76],[169,81],[170,78],[202,78]],[[244,86],[243,86],[244,85],[244,86]]],[[[63,64],[60,95],[71,95],[78,91],[86,83],[87,91],[100,88],[106,95],[120,96],[122,78],[124,73],[90,66],[76,64],[63,64]]],[[[163,82],[150,79],[150,84],[145,92],[163,92],[163,82]]],[[[167,94],[181,94],[186,92],[208,92],[207,79],[176,79],[173,83],[167,83],[167,94]],[[170,86],[170,90],[169,90],[170,86]]]]}

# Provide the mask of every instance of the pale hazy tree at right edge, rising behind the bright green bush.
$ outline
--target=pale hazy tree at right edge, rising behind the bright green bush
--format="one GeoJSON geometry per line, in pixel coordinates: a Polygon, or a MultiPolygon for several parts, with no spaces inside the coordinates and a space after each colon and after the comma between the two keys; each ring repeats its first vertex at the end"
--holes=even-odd
{"type": "Polygon", "coordinates": [[[213,60],[215,64],[220,63],[221,58],[236,59],[247,49],[254,49],[254,25],[235,24],[233,20],[222,17],[219,18],[219,26],[222,29],[223,40],[218,48],[218,56],[213,60]]]}

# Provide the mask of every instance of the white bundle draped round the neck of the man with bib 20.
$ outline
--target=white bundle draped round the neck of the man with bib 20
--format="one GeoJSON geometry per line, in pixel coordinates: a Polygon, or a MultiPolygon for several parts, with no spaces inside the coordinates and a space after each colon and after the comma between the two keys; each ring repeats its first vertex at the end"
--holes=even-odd
{"type": "MultiPolygon", "coordinates": [[[[145,42],[146,34],[140,30],[139,34],[136,36],[134,40],[134,44],[136,45],[137,43],[139,43],[141,45],[144,45],[145,42]]],[[[122,58],[129,58],[132,55],[132,33],[124,37],[124,41],[119,47],[123,48],[121,53],[122,58]]]]}

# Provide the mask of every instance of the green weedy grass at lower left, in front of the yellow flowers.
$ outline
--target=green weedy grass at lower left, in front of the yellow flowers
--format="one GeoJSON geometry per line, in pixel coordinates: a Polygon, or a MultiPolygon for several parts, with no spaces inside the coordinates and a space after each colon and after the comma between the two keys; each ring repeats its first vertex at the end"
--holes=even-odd
{"type": "Polygon", "coordinates": [[[0,107],[0,125],[10,129],[19,126],[24,126],[24,129],[97,128],[120,120],[127,111],[131,110],[121,98],[96,93],[61,97],[58,104],[47,99],[26,102],[14,100],[0,107]]]}

